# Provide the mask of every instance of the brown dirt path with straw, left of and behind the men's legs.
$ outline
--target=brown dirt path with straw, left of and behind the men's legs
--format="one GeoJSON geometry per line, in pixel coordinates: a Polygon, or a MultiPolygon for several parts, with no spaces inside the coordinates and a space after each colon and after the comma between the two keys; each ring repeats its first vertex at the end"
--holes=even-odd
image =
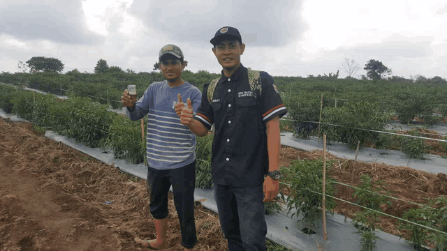
{"type": "MultiPolygon", "coordinates": [[[[146,182],[0,120],[0,250],[147,250],[146,182]],[[107,204],[106,201],[112,201],[107,204]]],[[[182,250],[170,195],[168,250],[182,250]]],[[[218,219],[196,206],[197,250],[226,250],[218,219]]]]}

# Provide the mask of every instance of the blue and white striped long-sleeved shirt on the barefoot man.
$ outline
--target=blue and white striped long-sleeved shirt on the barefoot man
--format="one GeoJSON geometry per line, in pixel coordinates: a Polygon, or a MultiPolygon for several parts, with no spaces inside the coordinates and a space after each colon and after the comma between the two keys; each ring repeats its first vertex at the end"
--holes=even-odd
{"type": "Polygon", "coordinates": [[[174,111],[173,102],[177,102],[179,93],[185,104],[188,98],[191,99],[193,112],[196,112],[202,96],[200,90],[189,82],[170,87],[166,80],[149,85],[135,103],[133,112],[126,109],[127,116],[133,121],[147,114],[146,156],[149,167],[175,169],[196,160],[196,137],[180,123],[174,111]]]}

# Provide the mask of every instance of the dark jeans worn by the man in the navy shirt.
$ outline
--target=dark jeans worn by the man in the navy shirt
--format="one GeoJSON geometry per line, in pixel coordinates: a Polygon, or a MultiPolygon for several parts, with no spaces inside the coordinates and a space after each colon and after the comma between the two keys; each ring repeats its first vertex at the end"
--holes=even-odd
{"type": "Polygon", "coordinates": [[[228,250],[266,250],[262,185],[237,188],[214,184],[214,199],[228,250]]]}

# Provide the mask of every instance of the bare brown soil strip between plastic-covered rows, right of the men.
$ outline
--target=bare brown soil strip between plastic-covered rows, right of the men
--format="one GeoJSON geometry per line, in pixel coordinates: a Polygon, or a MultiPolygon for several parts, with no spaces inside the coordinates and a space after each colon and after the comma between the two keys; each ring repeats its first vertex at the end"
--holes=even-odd
{"type": "MultiPolygon", "coordinates": [[[[307,159],[315,160],[323,157],[323,151],[300,151],[291,147],[283,146],[281,149],[280,165],[289,167],[291,160],[307,159]]],[[[370,162],[356,162],[353,160],[346,160],[344,158],[337,158],[330,153],[326,153],[327,160],[335,160],[335,165],[330,167],[329,176],[334,178],[339,183],[357,186],[360,184],[360,176],[368,174],[372,177],[373,182],[382,180],[383,187],[390,196],[402,199],[404,201],[390,199],[391,206],[383,206],[381,209],[383,213],[394,215],[402,218],[402,214],[409,211],[411,208],[416,208],[415,204],[410,204],[405,201],[415,202],[418,204],[427,204],[426,199],[437,198],[447,195],[447,175],[446,174],[431,174],[409,167],[395,167],[390,165],[383,165],[370,162]],[[355,166],[355,167],[354,167],[355,166]],[[351,182],[352,172],[354,169],[353,182],[351,182]]],[[[290,195],[286,186],[282,186],[281,190],[285,195],[290,195]]],[[[344,185],[335,184],[335,197],[344,199],[346,201],[356,202],[352,197],[353,188],[344,185]]],[[[348,218],[359,211],[359,208],[348,204],[346,202],[337,201],[335,213],[347,215],[348,218]]],[[[399,231],[397,227],[399,221],[395,218],[380,216],[378,226],[383,231],[396,236],[403,236],[408,238],[409,231],[399,231]]]]}

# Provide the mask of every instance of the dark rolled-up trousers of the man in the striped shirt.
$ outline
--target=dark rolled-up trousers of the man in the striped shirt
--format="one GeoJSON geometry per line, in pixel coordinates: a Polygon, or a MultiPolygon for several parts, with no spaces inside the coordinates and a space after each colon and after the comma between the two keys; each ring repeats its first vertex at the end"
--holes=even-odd
{"type": "Polygon", "coordinates": [[[174,204],[179,215],[182,245],[193,248],[197,243],[194,222],[194,189],[196,160],[177,169],[159,170],[148,166],[147,185],[150,191],[149,211],[158,220],[168,217],[168,192],[173,185],[174,204]]]}

